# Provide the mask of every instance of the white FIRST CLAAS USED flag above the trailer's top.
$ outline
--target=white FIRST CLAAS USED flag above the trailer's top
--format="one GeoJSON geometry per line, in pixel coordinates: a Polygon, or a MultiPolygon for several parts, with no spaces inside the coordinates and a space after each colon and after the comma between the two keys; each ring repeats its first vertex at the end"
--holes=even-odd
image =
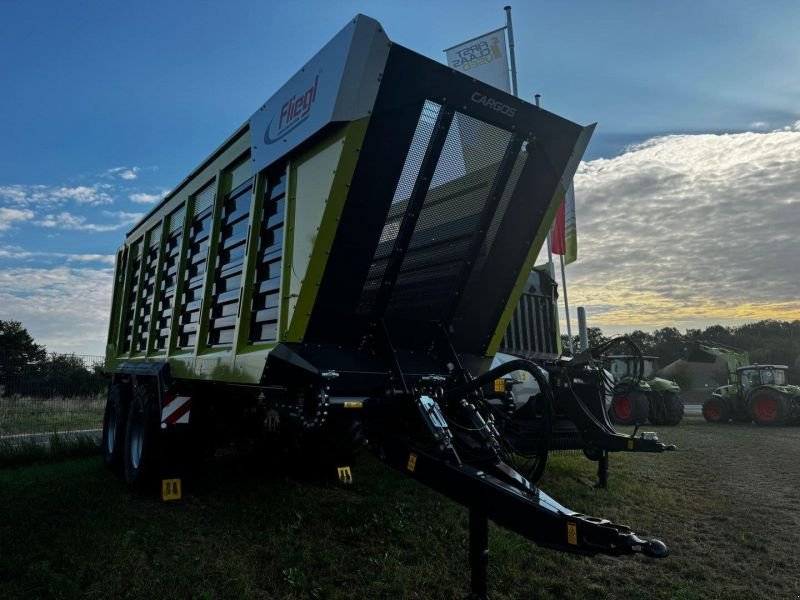
{"type": "Polygon", "coordinates": [[[448,48],[445,53],[452,68],[511,93],[505,27],[448,48]]]}

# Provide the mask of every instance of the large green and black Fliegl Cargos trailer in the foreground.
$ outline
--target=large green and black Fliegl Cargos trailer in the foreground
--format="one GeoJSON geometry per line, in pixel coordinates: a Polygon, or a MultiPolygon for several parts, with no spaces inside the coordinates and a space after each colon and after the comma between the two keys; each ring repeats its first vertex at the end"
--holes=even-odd
{"type": "Polygon", "coordinates": [[[490,369],[592,130],[354,18],[127,234],[108,465],[138,486],[211,443],[268,440],[347,480],[363,436],[469,507],[479,596],[487,519],[557,550],[665,556],[520,474],[481,392],[525,369],[551,401],[597,393],[590,361],[549,382],[525,359],[490,369]]]}

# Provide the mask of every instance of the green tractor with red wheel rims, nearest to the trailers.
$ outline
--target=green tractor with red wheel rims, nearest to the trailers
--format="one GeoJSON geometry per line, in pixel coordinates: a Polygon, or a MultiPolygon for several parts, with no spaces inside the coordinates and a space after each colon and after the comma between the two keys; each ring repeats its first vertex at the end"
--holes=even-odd
{"type": "Polygon", "coordinates": [[[608,415],[619,425],[677,425],[683,418],[681,388],[656,377],[655,356],[615,354],[605,357],[605,368],[616,382],[608,415]]]}

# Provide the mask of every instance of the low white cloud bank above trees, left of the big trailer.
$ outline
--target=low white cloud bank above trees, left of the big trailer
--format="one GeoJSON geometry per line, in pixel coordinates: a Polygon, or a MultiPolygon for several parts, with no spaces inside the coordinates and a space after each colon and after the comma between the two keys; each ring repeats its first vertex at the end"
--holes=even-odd
{"type": "Polygon", "coordinates": [[[113,269],[0,271],[0,319],[21,321],[51,352],[102,354],[113,269]]]}

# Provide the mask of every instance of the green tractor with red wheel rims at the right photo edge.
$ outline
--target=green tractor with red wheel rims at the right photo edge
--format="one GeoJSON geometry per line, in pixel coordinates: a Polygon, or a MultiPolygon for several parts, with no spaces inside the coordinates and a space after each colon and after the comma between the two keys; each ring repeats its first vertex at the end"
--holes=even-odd
{"type": "Polygon", "coordinates": [[[703,403],[709,423],[755,421],[758,425],[785,425],[800,419],[800,387],[789,385],[785,365],[738,367],[735,380],[718,387],[703,403]]]}

